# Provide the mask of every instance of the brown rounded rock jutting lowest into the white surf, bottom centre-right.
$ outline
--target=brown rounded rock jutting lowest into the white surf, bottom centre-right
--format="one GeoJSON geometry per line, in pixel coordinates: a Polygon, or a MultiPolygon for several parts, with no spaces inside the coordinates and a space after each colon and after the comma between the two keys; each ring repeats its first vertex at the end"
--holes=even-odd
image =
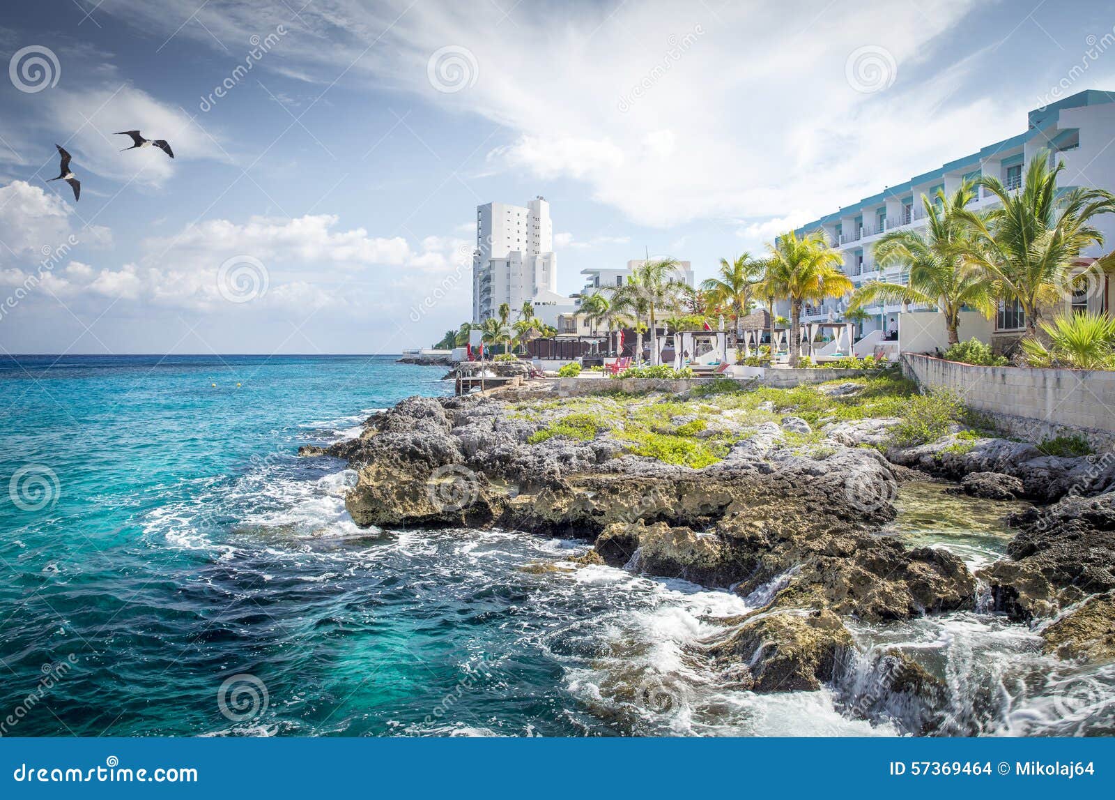
{"type": "Polygon", "coordinates": [[[745,672],[755,692],[815,692],[851,646],[840,617],[814,610],[756,614],[708,649],[745,672]]]}

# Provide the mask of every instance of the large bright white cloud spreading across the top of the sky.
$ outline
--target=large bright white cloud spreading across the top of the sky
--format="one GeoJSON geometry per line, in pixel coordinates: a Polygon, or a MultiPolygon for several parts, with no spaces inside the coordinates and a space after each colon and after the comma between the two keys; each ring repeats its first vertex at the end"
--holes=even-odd
{"type": "MultiPolygon", "coordinates": [[[[281,4],[245,0],[202,9],[205,27],[191,23],[178,36],[214,46],[207,30],[243,41],[290,23],[263,68],[326,83],[351,68],[483,115],[513,132],[489,166],[581,181],[631,220],[671,226],[783,218],[789,209],[820,215],[1016,133],[1019,98],[992,89],[982,91],[993,102],[953,96],[971,64],[919,77],[942,35],[975,7],[942,0],[927,15],[892,0],[864,0],[855,13],[805,0],[620,3],[579,7],[555,25],[549,7],[523,3],[494,26],[498,12],[487,0],[317,0],[301,12],[303,26],[281,4]],[[368,50],[369,39],[384,46],[368,50]],[[427,75],[430,55],[446,45],[475,60],[475,81],[456,93],[436,90],[427,75]],[[878,94],[861,94],[845,76],[849,56],[864,46],[885,47],[896,65],[896,80],[878,94]]],[[[109,10],[168,33],[195,8],[181,0],[182,13],[167,13],[118,0],[109,10]]]]}

